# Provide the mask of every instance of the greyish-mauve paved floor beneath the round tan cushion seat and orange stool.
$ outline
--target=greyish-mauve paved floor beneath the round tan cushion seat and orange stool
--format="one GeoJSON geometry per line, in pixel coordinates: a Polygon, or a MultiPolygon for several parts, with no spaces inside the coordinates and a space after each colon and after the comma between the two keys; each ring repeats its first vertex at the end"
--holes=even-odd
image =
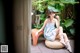
{"type": "MultiPolygon", "coordinates": [[[[72,51],[74,53],[74,41],[70,40],[72,51]]],[[[44,44],[44,41],[38,41],[37,46],[31,44],[31,53],[69,53],[67,49],[50,49],[44,44]]]]}

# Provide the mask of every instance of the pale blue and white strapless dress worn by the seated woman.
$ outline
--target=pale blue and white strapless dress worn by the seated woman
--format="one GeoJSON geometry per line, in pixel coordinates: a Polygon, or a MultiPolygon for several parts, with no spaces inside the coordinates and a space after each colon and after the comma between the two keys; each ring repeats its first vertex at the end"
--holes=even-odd
{"type": "Polygon", "coordinates": [[[56,32],[54,31],[55,24],[54,23],[47,23],[44,28],[44,37],[47,40],[54,41],[56,32]]]}

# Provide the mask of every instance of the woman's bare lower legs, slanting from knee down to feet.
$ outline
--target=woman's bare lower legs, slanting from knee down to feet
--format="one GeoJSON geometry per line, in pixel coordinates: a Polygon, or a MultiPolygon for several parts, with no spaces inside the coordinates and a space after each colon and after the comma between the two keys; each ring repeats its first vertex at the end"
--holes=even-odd
{"type": "Polygon", "coordinates": [[[60,42],[63,43],[70,52],[72,52],[67,34],[63,33],[63,28],[61,26],[59,27],[59,36],[60,42]]]}

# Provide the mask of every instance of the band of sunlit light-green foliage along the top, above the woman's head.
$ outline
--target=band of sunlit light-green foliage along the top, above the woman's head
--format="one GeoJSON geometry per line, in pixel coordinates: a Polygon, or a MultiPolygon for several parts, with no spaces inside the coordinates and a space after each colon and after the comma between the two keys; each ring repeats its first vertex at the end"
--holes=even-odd
{"type": "Polygon", "coordinates": [[[35,0],[32,2],[33,7],[40,12],[44,12],[48,5],[54,6],[59,10],[65,7],[65,4],[75,4],[79,2],[75,2],[75,0],[35,0]]]}

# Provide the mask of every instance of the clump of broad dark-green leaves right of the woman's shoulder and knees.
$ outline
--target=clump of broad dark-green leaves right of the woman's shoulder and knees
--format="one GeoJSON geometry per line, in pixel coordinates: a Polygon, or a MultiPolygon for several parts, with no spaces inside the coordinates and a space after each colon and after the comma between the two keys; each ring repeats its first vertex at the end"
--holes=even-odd
{"type": "Polygon", "coordinates": [[[75,29],[73,27],[74,20],[73,19],[65,19],[64,21],[61,21],[61,26],[63,27],[63,30],[71,36],[74,36],[75,29]]]}

